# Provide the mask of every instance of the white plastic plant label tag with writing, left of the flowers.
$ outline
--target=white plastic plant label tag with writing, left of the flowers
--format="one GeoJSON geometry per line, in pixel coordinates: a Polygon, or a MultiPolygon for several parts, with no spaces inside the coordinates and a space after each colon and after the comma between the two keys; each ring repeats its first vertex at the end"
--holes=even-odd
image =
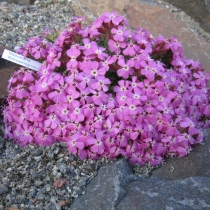
{"type": "Polygon", "coordinates": [[[39,67],[42,65],[37,61],[34,61],[30,58],[24,58],[22,55],[19,55],[6,49],[3,52],[2,58],[13,63],[17,63],[21,66],[27,67],[29,69],[33,69],[35,71],[38,71],[39,67]]]}

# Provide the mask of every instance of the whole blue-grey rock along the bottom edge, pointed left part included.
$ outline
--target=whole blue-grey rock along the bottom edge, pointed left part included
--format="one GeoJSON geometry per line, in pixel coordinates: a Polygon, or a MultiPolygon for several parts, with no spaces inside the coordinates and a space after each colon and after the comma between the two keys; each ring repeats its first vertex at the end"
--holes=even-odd
{"type": "Polygon", "coordinates": [[[85,191],[74,199],[71,210],[210,209],[210,177],[141,178],[125,159],[101,167],[85,191]]]}

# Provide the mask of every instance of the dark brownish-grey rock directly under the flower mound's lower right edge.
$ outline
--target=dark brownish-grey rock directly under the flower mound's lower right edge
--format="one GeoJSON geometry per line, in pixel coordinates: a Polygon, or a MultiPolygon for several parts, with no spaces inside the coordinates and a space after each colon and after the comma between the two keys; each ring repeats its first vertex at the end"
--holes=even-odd
{"type": "Polygon", "coordinates": [[[167,158],[166,163],[155,169],[153,175],[164,180],[196,176],[210,177],[210,130],[204,132],[204,145],[196,145],[191,154],[183,158],[167,158]]]}

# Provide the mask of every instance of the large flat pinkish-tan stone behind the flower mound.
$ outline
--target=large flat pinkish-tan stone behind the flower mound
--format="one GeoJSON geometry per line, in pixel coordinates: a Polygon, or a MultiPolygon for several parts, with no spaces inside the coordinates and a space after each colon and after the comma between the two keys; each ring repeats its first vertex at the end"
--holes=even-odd
{"type": "Polygon", "coordinates": [[[176,36],[183,45],[185,57],[201,62],[205,71],[210,72],[209,42],[168,9],[151,1],[77,0],[73,1],[73,9],[77,16],[85,16],[89,20],[107,11],[117,11],[125,16],[130,28],[146,28],[154,36],[163,35],[167,38],[176,36]]]}

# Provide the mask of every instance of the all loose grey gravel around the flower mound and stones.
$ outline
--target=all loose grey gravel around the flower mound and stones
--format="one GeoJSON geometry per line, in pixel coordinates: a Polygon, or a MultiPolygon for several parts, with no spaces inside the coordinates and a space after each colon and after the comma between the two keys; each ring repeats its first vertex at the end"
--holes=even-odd
{"type": "MultiPolygon", "coordinates": [[[[24,6],[0,3],[0,45],[12,49],[23,45],[28,37],[40,34],[46,27],[63,28],[75,15],[72,9],[75,1],[36,1],[24,6]]],[[[177,17],[191,25],[192,30],[208,33],[182,11],[163,1],[151,0],[175,12],[177,17]]],[[[89,14],[90,17],[92,14],[89,14]]],[[[0,122],[0,210],[15,209],[69,209],[76,197],[86,193],[86,185],[98,174],[101,166],[110,163],[80,161],[68,153],[65,144],[38,148],[20,148],[12,141],[5,140],[4,127],[0,122]]],[[[114,160],[115,162],[116,160],[114,160]]],[[[138,177],[148,177],[153,168],[134,167],[138,177]]],[[[130,173],[130,172],[129,172],[130,173]]]]}

